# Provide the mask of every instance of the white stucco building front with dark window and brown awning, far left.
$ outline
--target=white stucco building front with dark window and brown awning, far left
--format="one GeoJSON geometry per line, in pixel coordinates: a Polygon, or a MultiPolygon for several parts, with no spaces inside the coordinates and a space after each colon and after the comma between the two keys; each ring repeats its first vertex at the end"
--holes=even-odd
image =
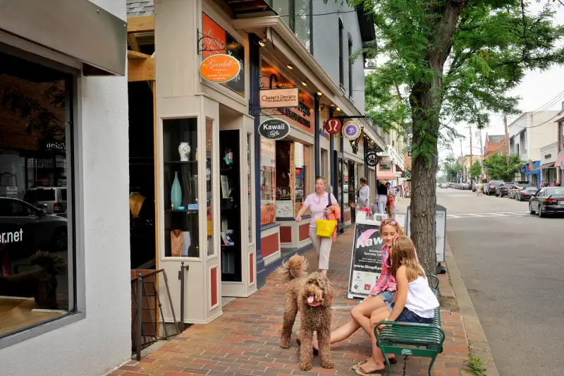
{"type": "Polygon", "coordinates": [[[119,1],[2,6],[2,375],[104,375],[130,359],[124,25],[119,1]],[[22,274],[49,284],[32,295],[22,274]]]}

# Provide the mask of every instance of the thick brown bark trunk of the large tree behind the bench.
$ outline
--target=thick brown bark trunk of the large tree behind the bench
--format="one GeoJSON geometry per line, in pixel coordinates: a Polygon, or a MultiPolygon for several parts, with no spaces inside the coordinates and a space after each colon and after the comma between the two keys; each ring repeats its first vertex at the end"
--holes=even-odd
{"type": "Polygon", "coordinates": [[[439,162],[439,127],[443,68],[453,47],[453,35],[466,0],[431,2],[425,10],[429,22],[434,22],[433,32],[427,35],[431,48],[424,56],[434,77],[426,82],[414,83],[410,94],[412,116],[411,238],[419,261],[427,273],[436,273],[436,172],[439,162]],[[439,16],[440,15],[440,16],[439,16]]]}

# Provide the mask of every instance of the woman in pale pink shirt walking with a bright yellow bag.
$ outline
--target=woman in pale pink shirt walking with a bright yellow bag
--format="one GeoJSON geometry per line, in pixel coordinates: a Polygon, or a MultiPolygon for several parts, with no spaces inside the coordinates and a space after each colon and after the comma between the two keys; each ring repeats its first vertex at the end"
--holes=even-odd
{"type": "Polygon", "coordinates": [[[327,276],[327,270],[329,269],[329,255],[331,255],[331,244],[335,240],[337,227],[333,231],[333,236],[331,238],[319,238],[317,236],[317,226],[315,221],[317,219],[334,219],[337,220],[341,218],[341,208],[337,203],[337,199],[333,194],[325,192],[326,181],[323,176],[317,176],[315,178],[315,193],[308,195],[305,198],[304,204],[298,215],[295,216],[295,222],[300,222],[302,220],[302,215],[307,209],[311,213],[311,219],[309,221],[309,238],[312,240],[313,249],[315,255],[317,255],[317,260],[319,261],[319,269],[321,269],[321,274],[324,277],[327,276]]]}

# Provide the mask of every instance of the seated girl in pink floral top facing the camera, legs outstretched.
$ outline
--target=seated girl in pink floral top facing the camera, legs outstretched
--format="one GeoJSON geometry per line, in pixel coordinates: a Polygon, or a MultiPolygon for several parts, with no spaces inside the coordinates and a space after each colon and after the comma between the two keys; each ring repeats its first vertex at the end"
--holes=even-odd
{"type": "MultiPolygon", "coordinates": [[[[382,271],[376,285],[369,296],[362,303],[355,305],[350,311],[352,320],[331,333],[331,344],[347,339],[360,327],[370,335],[370,315],[374,310],[388,306],[391,308],[393,295],[396,292],[396,279],[390,274],[391,253],[393,252],[393,240],[404,235],[403,229],[395,219],[384,219],[380,223],[380,236],[384,241],[382,246],[382,271]]],[[[317,338],[314,337],[313,347],[317,349],[317,338]]],[[[391,363],[395,363],[393,356],[388,356],[391,363]]]]}

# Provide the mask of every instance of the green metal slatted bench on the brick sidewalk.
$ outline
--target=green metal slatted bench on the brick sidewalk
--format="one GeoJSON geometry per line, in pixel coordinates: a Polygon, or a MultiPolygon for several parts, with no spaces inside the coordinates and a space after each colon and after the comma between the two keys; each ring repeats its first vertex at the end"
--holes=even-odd
{"type": "MultiPolygon", "coordinates": [[[[435,296],[439,298],[439,277],[429,274],[427,279],[435,296]]],[[[390,361],[386,353],[431,358],[431,364],[429,364],[429,376],[431,376],[431,368],[433,368],[436,357],[443,352],[445,341],[445,332],[441,328],[440,308],[436,308],[432,324],[381,321],[374,327],[374,334],[376,343],[384,354],[387,366],[386,376],[390,374],[390,361]],[[378,332],[377,329],[383,325],[386,326],[378,332]]]]}

